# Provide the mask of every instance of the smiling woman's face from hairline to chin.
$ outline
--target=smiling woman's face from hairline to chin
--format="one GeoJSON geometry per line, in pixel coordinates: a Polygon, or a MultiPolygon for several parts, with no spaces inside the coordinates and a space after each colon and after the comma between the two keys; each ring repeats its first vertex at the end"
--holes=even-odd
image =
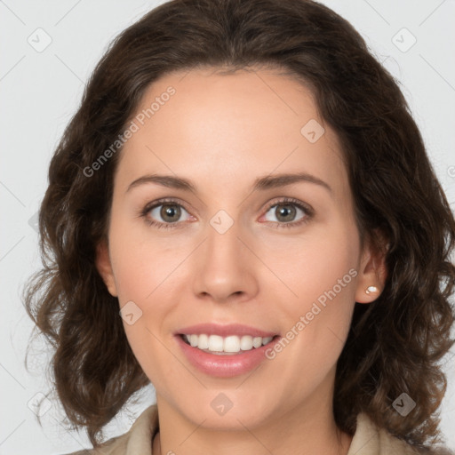
{"type": "Polygon", "coordinates": [[[226,428],[331,412],[355,300],[377,283],[311,92],[193,70],[150,86],[132,120],[98,267],[160,409],[226,428]]]}

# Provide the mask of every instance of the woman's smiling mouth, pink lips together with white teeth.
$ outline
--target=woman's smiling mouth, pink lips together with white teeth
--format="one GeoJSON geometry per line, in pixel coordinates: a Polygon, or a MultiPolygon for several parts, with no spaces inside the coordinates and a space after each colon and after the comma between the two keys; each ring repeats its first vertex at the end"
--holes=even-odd
{"type": "Polygon", "coordinates": [[[266,348],[281,338],[242,324],[203,323],[180,329],[176,339],[189,363],[216,377],[251,371],[266,359],[266,348]]]}

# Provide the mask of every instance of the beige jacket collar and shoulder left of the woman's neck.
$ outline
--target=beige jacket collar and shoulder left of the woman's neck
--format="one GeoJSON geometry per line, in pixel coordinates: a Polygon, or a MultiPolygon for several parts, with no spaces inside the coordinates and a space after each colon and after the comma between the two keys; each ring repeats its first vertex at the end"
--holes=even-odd
{"type": "Polygon", "coordinates": [[[156,404],[153,404],[142,411],[124,435],[108,439],[97,449],[84,449],[64,455],[151,455],[151,440],[157,427],[158,412],[156,404]]]}

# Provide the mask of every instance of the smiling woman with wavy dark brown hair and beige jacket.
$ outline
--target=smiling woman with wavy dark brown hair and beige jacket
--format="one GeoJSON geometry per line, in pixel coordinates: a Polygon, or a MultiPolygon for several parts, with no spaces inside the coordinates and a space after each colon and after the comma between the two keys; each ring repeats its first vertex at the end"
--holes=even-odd
{"type": "Polygon", "coordinates": [[[95,68],[49,180],[26,307],[91,453],[436,453],[455,222],[335,12],[157,7],[95,68]]]}

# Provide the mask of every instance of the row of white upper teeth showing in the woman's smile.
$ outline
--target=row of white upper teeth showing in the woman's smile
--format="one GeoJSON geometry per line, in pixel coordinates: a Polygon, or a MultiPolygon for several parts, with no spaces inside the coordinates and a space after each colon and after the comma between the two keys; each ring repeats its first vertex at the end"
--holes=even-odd
{"type": "Polygon", "coordinates": [[[273,337],[251,337],[243,335],[237,337],[230,335],[228,337],[220,337],[220,335],[183,335],[183,338],[188,341],[188,344],[198,349],[208,350],[211,352],[226,352],[238,353],[242,351],[251,351],[253,347],[258,348],[270,343],[273,337]]]}

